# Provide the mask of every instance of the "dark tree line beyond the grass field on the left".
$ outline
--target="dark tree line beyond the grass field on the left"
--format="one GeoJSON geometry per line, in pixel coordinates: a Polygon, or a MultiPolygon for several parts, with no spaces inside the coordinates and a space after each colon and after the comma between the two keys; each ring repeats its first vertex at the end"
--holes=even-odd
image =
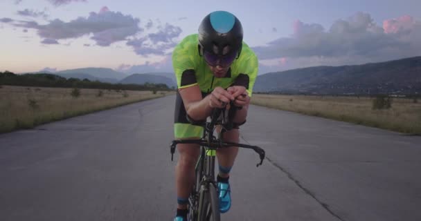
{"type": "Polygon", "coordinates": [[[111,84],[89,79],[61,77],[48,73],[17,75],[8,70],[0,72],[0,85],[39,86],[53,88],[93,88],[105,90],[172,90],[166,84],[111,84]]]}

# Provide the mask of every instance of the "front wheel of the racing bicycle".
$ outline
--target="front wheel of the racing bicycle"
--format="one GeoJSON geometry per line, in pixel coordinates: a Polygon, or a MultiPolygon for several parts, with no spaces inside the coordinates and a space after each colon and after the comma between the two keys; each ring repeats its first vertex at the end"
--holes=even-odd
{"type": "Polygon", "coordinates": [[[202,185],[199,195],[199,221],[220,221],[220,204],[215,186],[209,183],[202,185]]]}

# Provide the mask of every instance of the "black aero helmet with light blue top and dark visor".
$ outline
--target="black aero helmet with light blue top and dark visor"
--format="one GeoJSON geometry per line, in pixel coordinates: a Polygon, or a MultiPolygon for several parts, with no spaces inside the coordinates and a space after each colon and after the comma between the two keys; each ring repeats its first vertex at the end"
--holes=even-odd
{"type": "Polygon", "coordinates": [[[237,17],[226,11],[211,12],[199,26],[199,55],[211,66],[227,66],[240,56],[242,38],[237,17]]]}

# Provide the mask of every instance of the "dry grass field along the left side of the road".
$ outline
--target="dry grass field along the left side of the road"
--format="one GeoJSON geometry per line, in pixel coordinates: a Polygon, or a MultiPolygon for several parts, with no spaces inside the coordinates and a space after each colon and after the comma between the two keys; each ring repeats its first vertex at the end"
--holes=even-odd
{"type": "Polygon", "coordinates": [[[1,86],[0,133],[74,117],[93,111],[163,97],[170,92],[138,90],[80,89],[73,97],[72,88],[1,86]]]}

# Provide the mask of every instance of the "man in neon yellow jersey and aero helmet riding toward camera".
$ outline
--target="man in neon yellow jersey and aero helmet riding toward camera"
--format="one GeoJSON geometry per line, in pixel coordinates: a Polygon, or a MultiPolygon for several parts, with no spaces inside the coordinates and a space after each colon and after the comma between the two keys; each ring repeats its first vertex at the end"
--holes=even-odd
{"type": "MultiPolygon", "coordinates": [[[[225,142],[238,142],[238,126],[246,122],[247,110],[258,73],[258,59],[243,41],[240,20],[226,11],[206,15],[199,33],[188,35],[174,48],[172,65],[177,78],[174,113],[174,137],[199,139],[201,126],[190,124],[211,115],[213,108],[223,108],[230,101],[242,107],[233,118],[231,131],[224,133],[225,142]],[[188,119],[190,118],[190,119],[188,119]]],[[[199,157],[197,144],[178,144],[179,160],[175,168],[177,189],[176,221],[187,220],[188,196],[195,179],[195,163],[199,157]]],[[[219,173],[217,185],[220,212],[231,207],[229,173],[238,147],[217,150],[219,173]]]]}

